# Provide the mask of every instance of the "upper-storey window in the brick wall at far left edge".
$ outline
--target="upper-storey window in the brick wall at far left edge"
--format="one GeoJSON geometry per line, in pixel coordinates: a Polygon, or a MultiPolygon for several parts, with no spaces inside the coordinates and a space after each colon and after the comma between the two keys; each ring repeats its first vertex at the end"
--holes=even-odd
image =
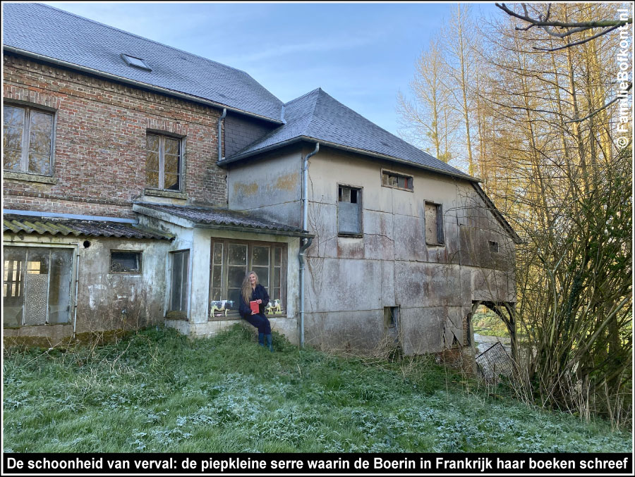
{"type": "Polygon", "coordinates": [[[53,175],[54,114],[31,106],[4,105],[4,170],[53,175]]]}

